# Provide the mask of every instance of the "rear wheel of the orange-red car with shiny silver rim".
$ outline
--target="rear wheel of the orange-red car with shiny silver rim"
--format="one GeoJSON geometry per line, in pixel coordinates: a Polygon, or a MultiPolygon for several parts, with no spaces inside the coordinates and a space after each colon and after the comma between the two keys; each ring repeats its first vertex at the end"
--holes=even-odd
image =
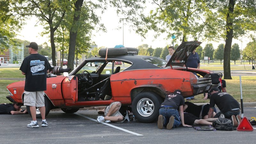
{"type": "Polygon", "coordinates": [[[159,116],[162,102],[163,100],[153,92],[141,92],[132,100],[132,113],[142,123],[154,122],[159,116]]]}

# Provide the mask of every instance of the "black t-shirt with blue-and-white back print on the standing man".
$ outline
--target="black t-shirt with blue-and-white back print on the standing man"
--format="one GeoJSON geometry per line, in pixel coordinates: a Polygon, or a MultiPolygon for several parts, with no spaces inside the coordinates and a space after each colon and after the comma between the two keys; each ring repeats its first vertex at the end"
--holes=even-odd
{"type": "Polygon", "coordinates": [[[47,70],[51,68],[49,61],[41,54],[30,54],[20,66],[26,73],[25,91],[36,92],[46,90],[47,70]]]}

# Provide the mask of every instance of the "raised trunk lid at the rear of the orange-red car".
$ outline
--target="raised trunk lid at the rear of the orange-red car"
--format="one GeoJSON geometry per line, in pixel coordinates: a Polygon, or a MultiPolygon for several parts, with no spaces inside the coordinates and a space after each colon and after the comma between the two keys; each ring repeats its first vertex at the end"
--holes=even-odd
{"type": "Polygon", "coordinates": [[[183,67],[184,64],[188,61],[188,56],[196,49],[201,42],[198,41],[190,41],[181,43],[178,48],[173,53],[171,59],[168,61],[165,67],[169,66],[181,66],[183,67]]]}

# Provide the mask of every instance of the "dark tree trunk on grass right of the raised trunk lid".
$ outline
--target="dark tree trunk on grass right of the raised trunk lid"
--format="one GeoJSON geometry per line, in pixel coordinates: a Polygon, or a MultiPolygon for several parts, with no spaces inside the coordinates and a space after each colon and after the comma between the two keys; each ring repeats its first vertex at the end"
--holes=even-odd
{"type": "Polygon", "coordinates": [[[232,79],[230,73],[230,52],[233,39],[233,13],[234,13],[235,0],[229,0],[228,3],[228,13],[226,21],[226,39],[224,47],[224,60],[223,60],[223,70],[224,70],[224,79],[232,79]]]}

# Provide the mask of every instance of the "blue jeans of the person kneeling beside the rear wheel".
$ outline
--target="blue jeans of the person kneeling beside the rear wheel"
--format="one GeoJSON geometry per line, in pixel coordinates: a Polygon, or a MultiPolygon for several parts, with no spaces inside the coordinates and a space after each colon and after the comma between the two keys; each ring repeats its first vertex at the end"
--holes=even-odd
{"type": "Polygon", "coordinates": [[[171,116],[174,116],[174,123],[172,127],[179,127],[181,124],[180,115],[177,109],[160,108],[159,115],[164,116],[164,127],[169,123],[171,116]]]}

